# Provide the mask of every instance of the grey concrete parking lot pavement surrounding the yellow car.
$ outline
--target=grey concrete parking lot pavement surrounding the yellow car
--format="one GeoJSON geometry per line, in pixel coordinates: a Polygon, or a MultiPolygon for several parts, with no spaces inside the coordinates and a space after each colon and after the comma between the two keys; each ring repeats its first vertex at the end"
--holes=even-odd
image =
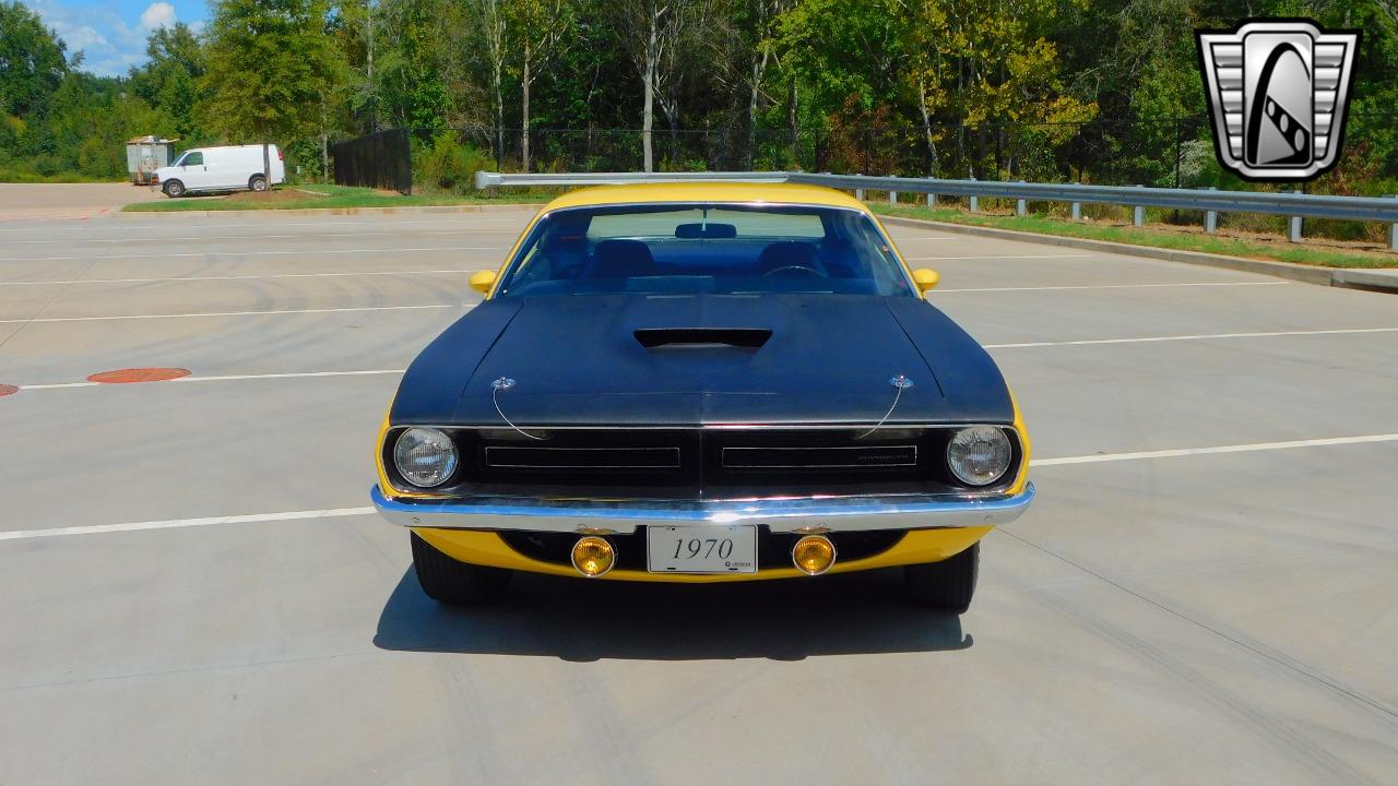
{"type": "Polygon", "coordinates": [[[1398,298],[899,228],[1035,438],[967,614],[449,611],[370,449],[527,217],[0,224],[0,785],[1398,783],[1398,298]]]}

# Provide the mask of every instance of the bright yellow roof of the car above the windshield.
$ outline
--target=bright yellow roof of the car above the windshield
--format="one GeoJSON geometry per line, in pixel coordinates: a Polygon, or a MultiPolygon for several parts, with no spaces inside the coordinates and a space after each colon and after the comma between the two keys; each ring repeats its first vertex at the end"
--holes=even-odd
{"type": "Polygon", "coordinates": [[[761,203],[809,204],[819,207],[844,207],[868,213],[868,208],[854,197],[825,186],[802,186],[797,183],[628,183],[619,186],[593,186],[569,192],[544,206],[544,213],[568,207],[593,207],[604,204],[665,204],[665,203],[761,203]]]}

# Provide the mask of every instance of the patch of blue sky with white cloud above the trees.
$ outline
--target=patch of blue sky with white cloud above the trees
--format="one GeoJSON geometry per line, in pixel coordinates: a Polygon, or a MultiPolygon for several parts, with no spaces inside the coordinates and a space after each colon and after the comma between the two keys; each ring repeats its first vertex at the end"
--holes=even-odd
{"type": "Polygon", "coordinates": [[[21,0],[69,45],[82,52],[82,69],[124,76],[145,60],[145,36],[176,21],[194,27],[208,17],[208,0],[21,0]]]}

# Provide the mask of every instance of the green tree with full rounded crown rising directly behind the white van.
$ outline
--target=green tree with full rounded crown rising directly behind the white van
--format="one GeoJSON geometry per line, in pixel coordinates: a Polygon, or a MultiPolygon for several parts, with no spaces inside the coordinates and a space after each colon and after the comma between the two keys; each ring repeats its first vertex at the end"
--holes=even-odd
{"type": "Polygon", "coordinates": [[[327,32],[327,0],[217,0],[210,22],[206,116],[232,140],[267,145],[324,124],[322,98],[344,78],[327,32]]]}

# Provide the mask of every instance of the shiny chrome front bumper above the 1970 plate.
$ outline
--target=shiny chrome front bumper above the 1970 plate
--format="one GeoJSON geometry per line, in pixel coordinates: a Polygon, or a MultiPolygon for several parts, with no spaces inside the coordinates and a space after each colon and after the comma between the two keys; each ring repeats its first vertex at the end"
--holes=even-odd
{"type": "Polygon", "coordinates": [[[864,531],[1005,524],[1033,502],[1035,484],[1028,484],[1021,494],[993,496],[914,494],[713,502],[512,496],[390,499],[376,485],[370,498],[384,519],[404,527],[630,534],[643,526],[749,523],[766,524],[777,533],[864,531]]]}

